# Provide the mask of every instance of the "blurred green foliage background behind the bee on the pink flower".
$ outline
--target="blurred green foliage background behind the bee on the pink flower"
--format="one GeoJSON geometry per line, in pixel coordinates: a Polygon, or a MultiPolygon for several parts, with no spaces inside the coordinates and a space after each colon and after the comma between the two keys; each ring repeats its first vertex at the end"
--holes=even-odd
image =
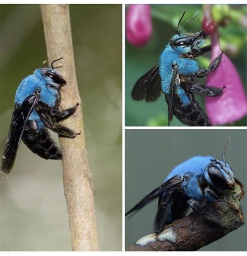
{"type": "MultiPolygon", "coordinates": [[[[168,107],[164,95],[155,102],[133,101],[130,94],[134,83],[154,67],[159,56],[170,38],[176,34],[176,27],[183,11],[186,11],[184,22],[196,14],[201,14],[196,21],[189,22],[183,32],[196,32],[201,30],[202,5],[152,5],[153,35],[150,42],[144,47],[135,47],[126,41],[126,126],[167,126],[168,107]]],[[[232,60],[246,86],[246,14],[247,6],[230,5],[231,20],[227,27],[219,27],[220,45],[226,55],[232,60]],[[245,15],[245,18],[243,18],[245,15]],[[245,19],[245,20],[244,20],[245,19]],[[244,26],[241,25],[244,23],[244,26]]],[[[183,24],[183,22],[182,22],[183,24]]],[[[208,41],[209,43],[209,41],[208,41]]],[[[196,58],[201,68],[207,68],[210,53],[196,58]]],[[[202,84],[205,80],[202,79],[202,84]]],[[[204,109],[204,97],[195,95],[197,102],[204,109]]],[[[245,126],[244,118],[231,126],[245,126]]],[[[176,117],[172,119],[171,126],[184,126],[176,117]]]]}

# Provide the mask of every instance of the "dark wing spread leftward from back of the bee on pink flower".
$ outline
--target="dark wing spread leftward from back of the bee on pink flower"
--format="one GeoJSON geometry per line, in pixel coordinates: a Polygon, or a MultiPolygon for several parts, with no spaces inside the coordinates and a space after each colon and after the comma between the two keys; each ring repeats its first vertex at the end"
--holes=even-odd
{"type": "Polygon", "coordinates": [[[156,65],[134,84],[131,97],[135,101],[156,101],[162,92],[159,67],[156,65]]]}

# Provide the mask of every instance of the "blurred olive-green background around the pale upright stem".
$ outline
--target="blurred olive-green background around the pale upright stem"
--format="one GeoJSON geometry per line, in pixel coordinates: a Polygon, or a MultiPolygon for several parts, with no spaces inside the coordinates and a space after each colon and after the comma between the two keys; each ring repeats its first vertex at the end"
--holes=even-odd
{"type": "MultiPolygon", "coordinates": [[[[119,251],[122,6],[71,5],[70,15],[100,250],[119,251]]],[[[39,5],[0,5],[0,31],[2,155],[17,86],[47,59],[39,5]]],[[[0,250],[71,250],[61,162],[21,142],[13,171],[0,177],[0,250]]]]}

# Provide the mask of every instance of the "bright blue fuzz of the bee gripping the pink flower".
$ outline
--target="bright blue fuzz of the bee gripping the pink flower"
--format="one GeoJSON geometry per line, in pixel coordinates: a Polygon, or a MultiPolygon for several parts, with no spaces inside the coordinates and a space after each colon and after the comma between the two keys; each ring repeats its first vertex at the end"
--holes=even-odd
{"type": "MultiPolygon", "coordinates": [[[[175,35],[171,40],[176,40],[182,38],[184,35],[175,35]]],[[[196,47],[199,49],[204,44],[204,41],[200,42],[196,47]]],[[[164,51],[159,57],[159,75],[162,80],[162,90],[164,93],[170,93],[170,85],[172,79],[172,64],[176,63],[179,74],[182,75],[191,75],[199,70],[198,63],[194,59],[181,58],[180,55],[183,53],[191,52],[190,46],[175,46],[171,47],[170,44],[167,44],[164,51]]],[[[189,97],[186,92],[181,88],[180,84],[176,85],[176,92],[180,97],[181,103],[183,106],[190,104],[189,97]]]]}

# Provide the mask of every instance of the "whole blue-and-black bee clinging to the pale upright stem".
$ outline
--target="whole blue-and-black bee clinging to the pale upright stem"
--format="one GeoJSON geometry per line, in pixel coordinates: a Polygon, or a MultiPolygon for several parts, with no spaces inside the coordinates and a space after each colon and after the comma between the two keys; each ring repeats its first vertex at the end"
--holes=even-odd
{"type": "Polygon", "coordinates": [[[2,161],[2,173],[9,173],[12,169],[20,140],[33,152],[44,159],[61,159],[62,155],[48,129],[58,135],[75,138],[76,133],[69,128],[58,124],[73,113],[75,106],[58,110],[60,103],[60,89],[66,84],[57,70],[51,68],[36,69],[32,75],[24,78],[15,96],[15,108],[11,119],[7,142],[2,161]]]}

